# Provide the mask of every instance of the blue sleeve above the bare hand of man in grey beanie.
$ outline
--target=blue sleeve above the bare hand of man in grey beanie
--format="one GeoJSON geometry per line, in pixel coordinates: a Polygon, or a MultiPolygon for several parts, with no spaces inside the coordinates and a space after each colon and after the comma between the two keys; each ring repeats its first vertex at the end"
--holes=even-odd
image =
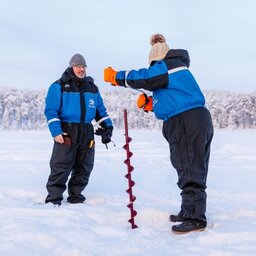
{"type": "Polygon", "coordinates": [[[46,96],[44,112],[52,137],[63,133],[60,122],[61,98],[61,85],[53,83],[46,96]]]}

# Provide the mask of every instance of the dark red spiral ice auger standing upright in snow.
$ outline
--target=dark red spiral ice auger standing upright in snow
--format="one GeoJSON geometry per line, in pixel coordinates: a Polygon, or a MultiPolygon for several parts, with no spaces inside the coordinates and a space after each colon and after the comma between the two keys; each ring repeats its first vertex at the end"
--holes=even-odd
{"type": "Polygon", "coordinates": [[[132,138],[129,137],[128,134],[128,121],[127,121],[127,110],[124,110],[124,128],[125,128],[125,145],[123,148],[126,150],[126,160],[124,163],[127,165],[127,174],[125,175],[125,178],[128,179],[128,189],[126,192],[129,194],[129,204],[127,207],[130,209],[131,218],[128,220],[128,222],[131,223],[132,229],[138,228],[138,226],[134,222],[134,217],[137,215],[137,212],[133,209],[133,202],[136,200],[136,197],[132,194],[132,187],[135,185],[135,182],[132,180],[131,172],[133,171],[133,166],[131,165],[130,158],[132,157],[132,152],[129,149],[129,143],[132,141],[132,138]]]}

